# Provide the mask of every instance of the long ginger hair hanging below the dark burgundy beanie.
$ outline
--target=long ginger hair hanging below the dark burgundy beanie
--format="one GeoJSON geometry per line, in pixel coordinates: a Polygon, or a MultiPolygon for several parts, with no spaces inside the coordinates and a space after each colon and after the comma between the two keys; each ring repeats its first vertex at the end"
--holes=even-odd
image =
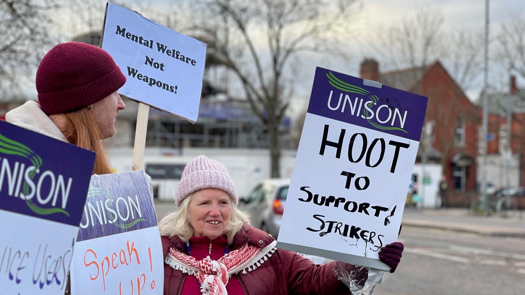
{"type": "Polygon", "coordinates": [[[93,174],[111,173],[111,167],[102,148],[100,129],[89,110],[83,108],[78,111],[64,113],[64,115],[65,125],[60,131],[69,143],[97,153],[95,165],[93,165],[93,174]]]}

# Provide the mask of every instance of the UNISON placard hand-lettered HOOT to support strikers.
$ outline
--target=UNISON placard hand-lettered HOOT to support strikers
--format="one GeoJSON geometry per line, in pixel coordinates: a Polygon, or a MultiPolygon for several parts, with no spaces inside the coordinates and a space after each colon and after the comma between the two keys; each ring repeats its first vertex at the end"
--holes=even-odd
{"type": "Polygon", "coordinates": [[[277,247],[388,270],[426,104],[318,67],[277,247]]]}

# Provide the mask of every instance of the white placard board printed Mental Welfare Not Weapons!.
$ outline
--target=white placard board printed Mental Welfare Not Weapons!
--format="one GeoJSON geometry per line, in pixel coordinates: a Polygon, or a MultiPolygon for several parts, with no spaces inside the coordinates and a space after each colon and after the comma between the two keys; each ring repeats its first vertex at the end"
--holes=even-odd
{"type": "Polygon", "coordinates": [[[120,94],[197,121],[206,44],[108,3],[102,49],[127,78],[120,94]]]}

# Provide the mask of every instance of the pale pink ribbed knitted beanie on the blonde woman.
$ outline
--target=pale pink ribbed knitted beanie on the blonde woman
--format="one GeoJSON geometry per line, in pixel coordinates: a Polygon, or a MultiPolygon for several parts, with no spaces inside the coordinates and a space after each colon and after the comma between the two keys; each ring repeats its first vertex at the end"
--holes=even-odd
{"type": "Polygon", "coordinates": [[[226,167],[208,159],[207,156],[198,156],[188,163],[182,172],[181,182],[175,195],[177,206],[180,206],[187,196],[204,188],[222,189],[237,206],[239,201],[237,191],[226,167]]]}

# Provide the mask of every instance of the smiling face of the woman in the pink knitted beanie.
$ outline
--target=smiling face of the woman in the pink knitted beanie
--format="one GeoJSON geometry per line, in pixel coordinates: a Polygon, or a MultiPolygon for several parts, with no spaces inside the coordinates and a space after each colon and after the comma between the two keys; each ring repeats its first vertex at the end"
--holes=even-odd
{"type": "Polygon", "coordinates": [[[226,233],[226,226],[232,216],[232,200],[220,189],[201,189],[193,193],[188,214],[193,235],[213,240],[226,233]]]}

